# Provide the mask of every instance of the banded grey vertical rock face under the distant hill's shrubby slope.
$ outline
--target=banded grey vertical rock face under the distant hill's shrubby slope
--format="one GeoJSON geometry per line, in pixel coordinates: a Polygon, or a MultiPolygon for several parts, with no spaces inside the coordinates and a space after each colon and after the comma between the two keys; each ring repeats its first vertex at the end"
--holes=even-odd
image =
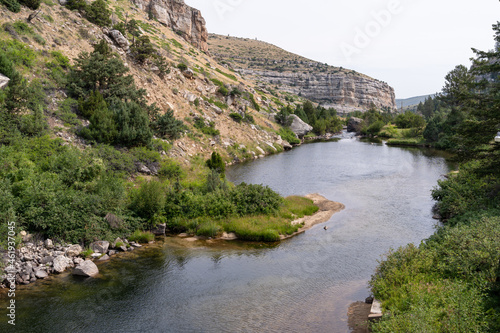
{"type": "Polygon", "coordinates": [[[240,69],[239,72],[278,84],[280,90],[301,95],[327,108],[333,107],[338,112],[366,111],[372,105],[380,109],[397,108],[394,89],[385,82],[364,75],[248,69],[240,69]]]}

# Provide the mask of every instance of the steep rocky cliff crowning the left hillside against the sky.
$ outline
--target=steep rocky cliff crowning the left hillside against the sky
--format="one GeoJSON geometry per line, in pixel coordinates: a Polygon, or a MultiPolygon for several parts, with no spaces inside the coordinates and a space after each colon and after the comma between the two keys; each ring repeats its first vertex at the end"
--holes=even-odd
{"type": "Polygon", "coordinates": [[[158,22],[172,28],[200,50],[208,51],[208,32],[201,12],[184,0],[133,0],[143,11],[158,22]]]}

